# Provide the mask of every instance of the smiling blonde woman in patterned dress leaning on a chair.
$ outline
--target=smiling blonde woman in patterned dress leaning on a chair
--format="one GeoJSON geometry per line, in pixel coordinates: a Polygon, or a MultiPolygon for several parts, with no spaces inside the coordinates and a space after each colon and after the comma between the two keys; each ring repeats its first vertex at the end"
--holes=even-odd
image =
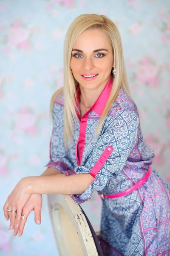
{"type": "Polygon", "coordinates": [[[51,108],[48,168],[20,180],[4,205],[14,235],[32,209],[40,222],[41,194],[69,194],[82,204],[98,191],[104,255],[169,255],[170,187],[151,167],[120,34],[104,15],[79,15],[68,28],[64,88],[51,108]]]}

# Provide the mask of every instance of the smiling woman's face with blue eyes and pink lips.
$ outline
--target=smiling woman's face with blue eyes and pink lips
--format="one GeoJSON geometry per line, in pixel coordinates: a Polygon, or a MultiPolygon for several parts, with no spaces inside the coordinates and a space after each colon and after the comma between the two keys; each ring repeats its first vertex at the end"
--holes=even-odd
{"type": "Polygon", "coordinates": [[[73,46],[70,66],[74,78],[84,89],[95,89],[106,84],[114,67],[108,36],[99,29],[82,32],[73,46]],[[85,78],[83,75],[95,76],[85,78]]]}

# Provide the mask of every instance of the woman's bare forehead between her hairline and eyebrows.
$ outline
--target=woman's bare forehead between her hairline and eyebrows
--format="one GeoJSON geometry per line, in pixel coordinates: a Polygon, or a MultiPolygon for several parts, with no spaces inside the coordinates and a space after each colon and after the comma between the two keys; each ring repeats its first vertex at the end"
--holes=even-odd
{"type": "Polygon", "coordinates": [[[79,35],[73,48],[83,51],[93,51],[99,48],[111,49],[111,43],[108,36],[102,30],[87,29],[79,35]]]}

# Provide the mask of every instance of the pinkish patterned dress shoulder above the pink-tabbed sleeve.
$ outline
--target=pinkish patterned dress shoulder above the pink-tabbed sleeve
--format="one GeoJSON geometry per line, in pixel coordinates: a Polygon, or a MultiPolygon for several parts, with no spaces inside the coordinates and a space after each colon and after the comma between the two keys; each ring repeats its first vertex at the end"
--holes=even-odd
{"type": "Polygon", "coordinates": [[[138,114],[135,102],[133,102],[133,99],[130,98],[130,96],[125,92],[123,87],[119,89],[119,94],[111,106],[109,115],[115,116],[116,113],[122,111],[130,111],[138,114]]]}

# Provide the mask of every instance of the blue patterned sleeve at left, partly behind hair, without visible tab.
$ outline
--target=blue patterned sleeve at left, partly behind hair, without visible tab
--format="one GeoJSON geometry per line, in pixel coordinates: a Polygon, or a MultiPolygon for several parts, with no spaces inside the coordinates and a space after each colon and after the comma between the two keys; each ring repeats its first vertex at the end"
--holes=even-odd
{"type": "Polygon", "coordinates": [[[53,129],[50,140],[50,160],[45,167],[56,168],[62,173],[68,171],[70,174],[74,165],[65,153],[63,118],[64,107],[57,104],[55,100],[52,110],[53,129]]]}

